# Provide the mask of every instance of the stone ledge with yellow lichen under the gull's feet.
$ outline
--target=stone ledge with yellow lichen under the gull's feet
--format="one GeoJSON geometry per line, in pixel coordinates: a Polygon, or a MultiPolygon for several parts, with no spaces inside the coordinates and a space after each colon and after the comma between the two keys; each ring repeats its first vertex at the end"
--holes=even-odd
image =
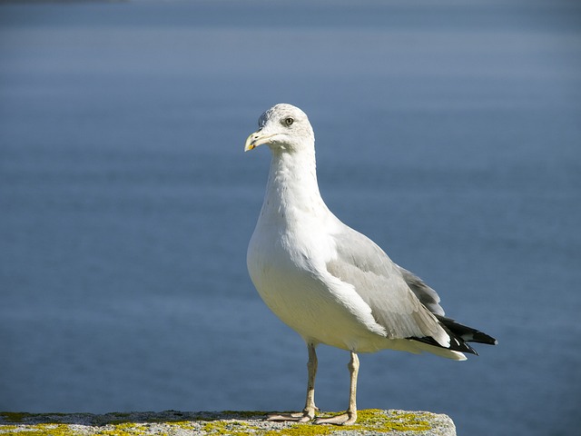
{"type": "MultiPolygon", "coordinates": [[[[456,436],[448,415],[428,411],[358,411],[356,425],[264,421],[263,411],[162,411],[92,413],[0,412],[0,435],[376,435],[456,436]]],[[[321,413],[321,416],[330,415],[321,413]]]]}

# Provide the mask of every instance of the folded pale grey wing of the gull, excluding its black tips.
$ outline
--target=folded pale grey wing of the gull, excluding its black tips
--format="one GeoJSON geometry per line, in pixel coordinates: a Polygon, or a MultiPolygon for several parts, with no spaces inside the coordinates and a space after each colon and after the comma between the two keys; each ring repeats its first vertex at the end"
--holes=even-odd
{"type": "Polygon", "coordinates": [[[449,344],[448,334],[422,303],[438,305],[436,292],[399,268],[367,236],[348,226],[335,234],[335,242],[338,255],[327,263],[327,271],[355,288],[389,339],[431,337],[442,346],[449,344]],[[419,289],[419,296],[406,278],[419,289]]]}

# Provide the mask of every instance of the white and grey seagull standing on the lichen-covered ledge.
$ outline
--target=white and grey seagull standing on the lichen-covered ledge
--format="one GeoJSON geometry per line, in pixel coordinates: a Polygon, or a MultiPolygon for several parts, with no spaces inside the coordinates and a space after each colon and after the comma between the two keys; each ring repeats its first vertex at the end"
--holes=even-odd
{"type": "Polygon", "coordinates": [[[272,414],[269,421],[357,421],[359,352],[432,352],[463,361],[465,352],[478,354],[467,342],[497,344],[446,317],[437,292],[330,212],[320,196],[315,135],[304,112],[276,104],[261,114],[244,151],[262,144],[271,149],[271,168],[248,246],[248,271],[261,299],[300,334],[309,355],[304,409],[272,414]],[[331,418],[315,416],[321,343],[350,352],[349,406],[331,418]]]}

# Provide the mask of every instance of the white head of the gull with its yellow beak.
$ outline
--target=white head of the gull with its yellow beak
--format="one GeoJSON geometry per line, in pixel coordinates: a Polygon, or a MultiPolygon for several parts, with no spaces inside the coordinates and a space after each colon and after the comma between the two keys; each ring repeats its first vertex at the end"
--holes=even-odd
{"type": "Polygon", "coordinates": [[[244,151],[262,144],[271,150],[296,153],[314,150],[315,134],[307,114],[291,104],[276,104],[258,120],[259,129],[246,139],[244,151]]]}

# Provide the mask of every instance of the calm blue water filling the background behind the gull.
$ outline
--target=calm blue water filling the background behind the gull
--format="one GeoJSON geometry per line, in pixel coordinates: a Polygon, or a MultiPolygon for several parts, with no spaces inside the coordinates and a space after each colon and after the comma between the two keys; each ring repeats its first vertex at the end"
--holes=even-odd
{"type": "Polygon", "coordinates": [[[500,342],[362,355],[359,407],[578,430],[581,5],[548,0],[0,5],[0,410],[302,407],[245,266],[280,102],[330,209],[500,342]]]}

